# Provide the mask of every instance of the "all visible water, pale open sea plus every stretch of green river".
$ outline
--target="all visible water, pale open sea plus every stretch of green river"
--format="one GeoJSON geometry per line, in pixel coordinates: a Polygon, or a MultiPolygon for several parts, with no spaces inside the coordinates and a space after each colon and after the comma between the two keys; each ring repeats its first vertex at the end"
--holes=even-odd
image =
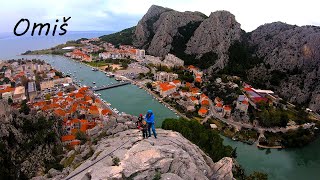
{"type": "MultiPolygon", "coordinates": [[[[76,34],[65,39],[50,40],[50,38],[0,38],[0,58],[19,58],[17,54],[26,50],[43,49],[50,46],[63,43],[66,40],[78,39],[81,37],[97,37],[103,33],[84,33],[76,34]],[[40,46],[41,45],[41,46],[40,46]],[[40,46],[40,47],[39,47],[40,46]]],[[[24,56],[25,58],[27,56],[24,56]]],[[[78,80],[83,80],[82,84],[105,85],[115,82],[107,78],[102,72],[93,72],[91,68],[80,63],[74,62],[61,56],[30,56],[29,58],[38,58],[47,61],[57,69],[63,72],[71,72],[78,80]],[[81,68],[80,68],[81,67],[81,68]]],[[[127,112],[138,115],[145,113],[148,109],[155,111],[157,125],[160,126],[163,119],[176,117],[176,115],[160,104],[158,101],[147,94],[144,90],[134,85],[126,85],[114,89],[100,91],[101,97],[112,104],[120,112],[127,112]]],[[[224,138],[224,137],[223,137],[224,138]]],[[[237,148],[239,163],[244,167],[247,173],[253,171],[263,171],[268,173],[269,179],[320,179],[320,139],[310,145],[299,149],[287,150],[259,150],[255,146],[250,146],[241,142],[235,142],[224,138],[224,143],[237,148]]]]}

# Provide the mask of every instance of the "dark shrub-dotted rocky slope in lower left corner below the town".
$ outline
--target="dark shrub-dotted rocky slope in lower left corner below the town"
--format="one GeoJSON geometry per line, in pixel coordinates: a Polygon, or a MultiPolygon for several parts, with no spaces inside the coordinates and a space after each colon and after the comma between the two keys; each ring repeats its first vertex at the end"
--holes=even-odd
{"type": "Polygon", "coordinates": [[[30,179],[61,169],[59,120],[20,113],[0,101],[0,179],[30,179]]]}

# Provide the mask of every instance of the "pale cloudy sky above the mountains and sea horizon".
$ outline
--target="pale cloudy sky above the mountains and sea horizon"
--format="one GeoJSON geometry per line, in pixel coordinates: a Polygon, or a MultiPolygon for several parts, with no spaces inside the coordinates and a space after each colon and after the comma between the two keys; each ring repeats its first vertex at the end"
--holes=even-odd
{"type": "Polygon", "coordinates": [[[317,0],[1,0],[0,32],[12,32],[21,18],[46,23],[64,16],[71,17],[70,31],[118,31],[136,25],[152,4],[207,15],[228,10],[245,31],[274,21],[320,25],[317,0]]]}

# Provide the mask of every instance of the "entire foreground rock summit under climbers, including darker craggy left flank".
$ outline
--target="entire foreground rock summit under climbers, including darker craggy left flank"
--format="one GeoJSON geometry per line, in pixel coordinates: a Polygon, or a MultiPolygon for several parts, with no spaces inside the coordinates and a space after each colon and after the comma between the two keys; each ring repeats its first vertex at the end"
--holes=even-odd
{"type": "Polygon", "coordinates": [[[161,179],[234,179],[232,172],[238,164],[233,159],[214,163],[198,146],[173,131],[157,129],[157,139],[143,139],[141,131],[135,128],[136,121],[130,115],[111,118],[103,128],[90,130],[92,141],[65,154],[62,171],[51,169],[33,180],[139,180],[160,174],[161,179]]]}

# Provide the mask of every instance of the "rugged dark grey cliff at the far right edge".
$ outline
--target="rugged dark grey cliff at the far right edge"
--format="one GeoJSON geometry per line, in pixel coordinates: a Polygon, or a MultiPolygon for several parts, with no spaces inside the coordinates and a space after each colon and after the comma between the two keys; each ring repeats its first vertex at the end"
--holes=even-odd
{"type": "Polygon", "coordinates": [[[266,82],[275,73],[279,83],[270,84],[291,102],[320,110],[320,28],[281,22],[260,26],[251,33],[251,44],[267,66],[250,70],[249,78],[266,82]]]}

